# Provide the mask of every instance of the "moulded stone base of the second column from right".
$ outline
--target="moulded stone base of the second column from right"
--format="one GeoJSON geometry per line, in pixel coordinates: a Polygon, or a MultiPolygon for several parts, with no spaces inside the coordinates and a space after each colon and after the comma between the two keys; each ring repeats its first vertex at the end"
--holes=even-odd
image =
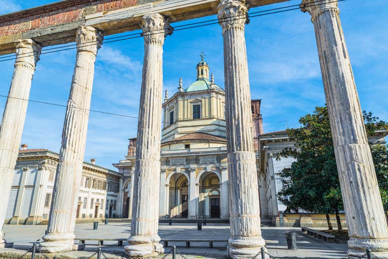
{"type": "MultiPolygon", "coordinates": [[[[265,248],[264,239],[260,237],[235,236],[229,239],[228,254],[231,259],[252,259],[262,247],[265,248]]],[[[267,249],[266,249],[267,251],[267,249]]],[[[266,259],[269,258],[267,255],[266,259]]]]}

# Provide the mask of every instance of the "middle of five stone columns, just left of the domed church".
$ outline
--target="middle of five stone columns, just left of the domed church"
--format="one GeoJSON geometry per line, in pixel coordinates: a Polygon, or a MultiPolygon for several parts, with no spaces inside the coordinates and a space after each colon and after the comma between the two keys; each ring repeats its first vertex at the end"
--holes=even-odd
{"type": "Polygon", "coordinates": [[[160,138],[162,128],[163,43],[172,32],[159,13],[141,18],[144,36],[136,164],[133,181],[131,236],[125,253],[149,257],[163,252],[159,243],[160,138]]]}

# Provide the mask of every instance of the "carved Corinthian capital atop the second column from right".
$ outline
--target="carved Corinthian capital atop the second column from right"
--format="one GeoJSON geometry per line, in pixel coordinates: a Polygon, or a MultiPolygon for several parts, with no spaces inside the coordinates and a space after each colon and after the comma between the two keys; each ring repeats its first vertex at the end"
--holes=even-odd
{"type": "Polygon", "coordinates": [[[217,17],[222,27],[222,32],[231,26],[244,28],[248,23],[248,7],[245,0],[221,0],[218,4],[217,17]]]}

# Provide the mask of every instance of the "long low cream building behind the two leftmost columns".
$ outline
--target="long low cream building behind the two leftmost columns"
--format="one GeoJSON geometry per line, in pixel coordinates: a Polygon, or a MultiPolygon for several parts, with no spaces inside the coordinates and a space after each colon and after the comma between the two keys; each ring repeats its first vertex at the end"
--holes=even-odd
{"type": "MultiPolygon", "coordinates": [[[[47,224],[59,155],[47,149],[19,151],[5,224],[47,224]]],[[[120,173],[84,162],[77,204],[77,220],[114,217],[120,173]]]]}

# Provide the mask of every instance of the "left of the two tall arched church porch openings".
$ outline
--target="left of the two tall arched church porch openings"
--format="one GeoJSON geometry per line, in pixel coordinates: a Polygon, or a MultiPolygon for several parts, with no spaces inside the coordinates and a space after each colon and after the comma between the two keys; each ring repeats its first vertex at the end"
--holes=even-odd
{"type": "Polygon", "coordinates": [[[189,215],[189,178],[184,173],[169,177],[170,218],[187,218],[189,215]]]}

